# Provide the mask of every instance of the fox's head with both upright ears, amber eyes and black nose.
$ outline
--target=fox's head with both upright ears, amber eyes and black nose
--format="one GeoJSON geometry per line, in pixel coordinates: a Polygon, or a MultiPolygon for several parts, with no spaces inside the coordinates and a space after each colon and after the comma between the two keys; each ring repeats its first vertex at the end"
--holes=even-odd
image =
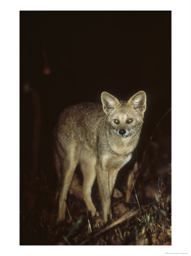
{"type": "Polygon", "coordinates": [[[118,101],[108,92],[101,93],[103,110],[109,125],[120,138],[131,137],[141,131],[146,110],[146,93],[141,90],[129,101],[118,101]]]}

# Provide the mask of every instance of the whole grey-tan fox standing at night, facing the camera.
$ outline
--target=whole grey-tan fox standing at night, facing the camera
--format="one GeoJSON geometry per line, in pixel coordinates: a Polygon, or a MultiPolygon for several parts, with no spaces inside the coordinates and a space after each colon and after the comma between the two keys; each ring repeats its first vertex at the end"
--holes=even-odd
{"type": "Polygon", "coordinates": [[[54,161],[61,191],[58,221],[65,220],[66,199],[80,164],[82,197],[92,216],[99,216],[91,198],[95,179],[99,187],[103,220],[112,218],[111,196],[118,172],[137,147],[146,110],[146,93],[141,90],[128,101],[101,93],[101,104],[85,102],[69,106],[58,118],[54,131],[54,161]]]}

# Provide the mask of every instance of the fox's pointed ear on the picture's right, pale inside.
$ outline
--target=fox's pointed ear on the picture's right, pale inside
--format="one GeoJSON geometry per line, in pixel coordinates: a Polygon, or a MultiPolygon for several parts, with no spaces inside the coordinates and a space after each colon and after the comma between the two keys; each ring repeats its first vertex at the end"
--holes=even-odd
{"type": "Polygon", "coordinates": [[[143,115],[146,110],[146,93],[143,92],[143,90],[135,93],[128,101],[128,106],[133,107],[135,110],[143,115]]]}

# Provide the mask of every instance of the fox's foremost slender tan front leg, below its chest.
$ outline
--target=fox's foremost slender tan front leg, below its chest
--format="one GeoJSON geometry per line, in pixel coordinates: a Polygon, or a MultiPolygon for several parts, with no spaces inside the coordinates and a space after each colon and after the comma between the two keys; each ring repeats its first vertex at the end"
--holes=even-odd
{"type": "Polygon", "coordinates": [[[97,183],[99,186],[99,192],[101,197],[101,204],[103,207],[104,222],[112,217],[111,213],[111,196],[109,191],[109,173],[107,170],[103,170],[99,164],[96,164],[97,183]]]}

